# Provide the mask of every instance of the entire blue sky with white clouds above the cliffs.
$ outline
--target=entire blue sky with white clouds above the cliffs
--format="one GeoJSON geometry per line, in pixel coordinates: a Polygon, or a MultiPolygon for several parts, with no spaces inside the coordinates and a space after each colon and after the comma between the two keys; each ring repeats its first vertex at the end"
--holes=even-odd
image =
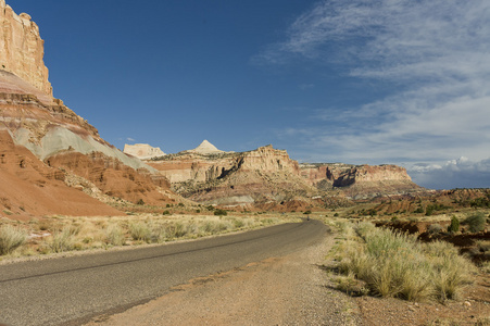
{"type": "Polygon", "coordinates": [[[272,143],[490,187],[488,0],[8,0],[54,96],[118,148],[272,143]]]}

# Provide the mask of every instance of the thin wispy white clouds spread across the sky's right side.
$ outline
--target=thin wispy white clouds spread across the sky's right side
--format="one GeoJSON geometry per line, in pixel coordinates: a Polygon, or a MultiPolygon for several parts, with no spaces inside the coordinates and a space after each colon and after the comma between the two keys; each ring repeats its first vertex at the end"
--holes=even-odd
{"type": "Polygon", "coordinates": [[[255,59],[306,60],[390,86],[384,98],[355,108],[312,109],[311,118],[329,122],[329,128],[316,126],[305,143],[311,150],[373,163],[485,160],[490,156],[488,17],[487,0],[322,1],[291,24],[284,41],[255,59]]]}

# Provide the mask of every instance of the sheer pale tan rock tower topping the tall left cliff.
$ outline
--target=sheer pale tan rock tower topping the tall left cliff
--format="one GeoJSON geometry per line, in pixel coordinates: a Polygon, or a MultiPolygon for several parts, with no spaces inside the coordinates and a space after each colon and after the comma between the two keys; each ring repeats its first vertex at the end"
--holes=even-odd
{"type": "Polygon", "coordinates": [[[43,57],[45,41],[36,23],[26,13],[15,14],[4,0],[0,0],[0,68],[52,96],[43,57]]]}

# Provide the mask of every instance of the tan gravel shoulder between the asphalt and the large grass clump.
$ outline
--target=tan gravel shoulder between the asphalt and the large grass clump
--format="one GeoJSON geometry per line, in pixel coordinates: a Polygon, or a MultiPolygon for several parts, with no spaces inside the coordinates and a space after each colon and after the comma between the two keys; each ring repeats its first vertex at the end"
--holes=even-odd
{"type": "Polygon", "coordinates": [[[86,325],[361,325],[355,299],[327,287],[334,236],[281,258],[191,279],[86,325]]]}

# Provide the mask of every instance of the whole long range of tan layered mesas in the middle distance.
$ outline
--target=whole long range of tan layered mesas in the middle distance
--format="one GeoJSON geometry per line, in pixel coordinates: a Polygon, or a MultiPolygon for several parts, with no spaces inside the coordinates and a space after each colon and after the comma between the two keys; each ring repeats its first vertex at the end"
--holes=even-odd
{"type": "Polygon", "coordinates": [[[148,162],[178,193],[205,204],[298,209],[419,191],[394,165],[299,164],[272,146],[242,153],[184,151],[148,162]],[[294,204],[292,204],[294,202],[294,204]]]}

